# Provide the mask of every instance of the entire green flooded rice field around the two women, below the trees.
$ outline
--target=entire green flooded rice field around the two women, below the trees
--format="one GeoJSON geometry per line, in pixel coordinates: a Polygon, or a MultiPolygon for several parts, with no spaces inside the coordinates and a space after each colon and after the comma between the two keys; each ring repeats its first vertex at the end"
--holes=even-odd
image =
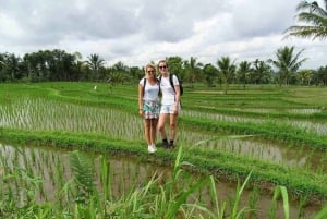
{"type": "Polygon", "coordinates": [[[155,154],[136,89],[0,84],[0,217],[326,218],[325,86],[186,84],[155,154]]]}

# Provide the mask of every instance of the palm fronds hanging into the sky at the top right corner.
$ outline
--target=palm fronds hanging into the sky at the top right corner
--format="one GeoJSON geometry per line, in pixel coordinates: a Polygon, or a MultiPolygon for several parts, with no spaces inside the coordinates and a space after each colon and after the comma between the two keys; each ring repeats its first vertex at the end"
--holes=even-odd
{"type": "Polygon", "coordinates": [[[302,1],[299,3],[296,14],[299,22],[306,25],[293,25],[286,29],[286,37],[295,36],[313,39],[327,37],[327,0],[325,0],[325,9],[314,2],[302,1]]]}

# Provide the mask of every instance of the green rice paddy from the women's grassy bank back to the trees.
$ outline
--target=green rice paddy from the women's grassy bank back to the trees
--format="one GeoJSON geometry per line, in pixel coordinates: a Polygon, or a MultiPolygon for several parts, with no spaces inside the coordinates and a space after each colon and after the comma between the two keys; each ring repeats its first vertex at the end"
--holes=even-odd
{"type": "MultiPolygon", "coordinates": [[[[173,167],[178,149],[161,148],[159,135],[159,150],[147,154],[137,87],[109,89],[99,83],[95,90],[94,85],[0,84],[1,141],[129,155],[173,167]]],[[[219,88],[196,87],[185,86],[182,97],[181,161],[234,183],[251,173],[249,184],[266,193],[284,186],[294,200],[305,199],[299,209],[326,205],[326,88],[234,86],[223,95],[219,88]]]]}

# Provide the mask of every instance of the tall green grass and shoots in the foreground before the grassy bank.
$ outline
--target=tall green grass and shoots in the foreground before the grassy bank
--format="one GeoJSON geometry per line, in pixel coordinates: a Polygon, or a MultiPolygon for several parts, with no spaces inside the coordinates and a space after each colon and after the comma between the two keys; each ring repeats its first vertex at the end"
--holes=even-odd
{"type": "MultiPolygon", "coordinates": [[[[7,158],[0,156],[1,165],[11,166],[10,162],[12,161],[13,163],[20,162],[24,168],[19,168],[20,166],[15,165],[16,168],[5,168],[10,172],[1,170],[0,195],[3,205],[0,215],[2,212],[1,216],[9,218],[38,215],[40,218],[225,218],[228,216],[237,219],[255,212],[256,209],[253,204],[255,200],[250,202],[249,206],[242,204],[243,207],[240,203],[251,174],[247,175],[242,185],[237,187],[234,198],[219,203],[219,186],[217,190],[217,182],[214,177],[196,177],[197,180],[195,180],[194,175],[186,171],[187,167],[193,165],[184,160],[182,148],[179,147],[177,151],[171,173],[164,175],[164,172],[155,171],[148,178],[142,177],[142,181],[137,180],[138,174],[132,177],[132,172],[130,172],[135,167],[131,169],[129,165],[121,166],[122,168],[118,168],[111,162],[108,165],[104,156],[99,156],[97,162],[94,163],[89,155],[72,151],[66,154],[69,162],[62,162],[58,160],[59,157],[62,157],[60,154],[51,158],[51,156],[44,153],[39,154],[36,150],[33,153],[20,150],[16,155],[13,151],[8,154],[8,149],[4,149],[7,158]],[[17,158],[14,158],[15,156],[17,158]],[[41,179],[44,178],[37,175],[44,170],[33,170],[29,173],[28,171],[32,170],[31,167],[35,166],[35,160],[46,162],[49,159],[53,160],[53,162],[48,163],[50,169],[41,166],[50,171],[49,175],[57,174],[57,178],[52,179],[52,184],[56,185],[55,191],[58,192],[55,192],[55,196],[46,198],[39,195],[40,185],[44,183],[41,179]],[[22,162],[22,160],[25,161],[22,162]],[[56,163],[55,167],[53,163],[56,163]],[[65,165],[69,165],[71,169],[69,175],[65,171],[65,165]],[[114,168],[112,168],[113,166],[114,168]],[[112,187],[117,187],[117,184],[124,184],[125,180],[113,178],[114,171],[123,171],[122,175],[134,178],[130,182],[132,186],[125,186],[119,195],[113,195],[114,188],[112,187]],[[164,183],[162,178],[165,179],[164,183]],[[148,180],[146,181],[146,179],[148,180]],[[14,181],[16,183],[7,184],[14,181]],[[209,187],[211,194],[206,198],[203,198],[204,187],[209,187]],[[206,200],[207,198],[211,200],[206,200]],[[206,202],[214,205],[207,205],[206,202]]],[[[48,187],[48,185],[43,186],[48,187]]],[[[47,190],[46,187],[43,190],[47,190]]],[[[48,192],[44,193],[45,196],[49,195],[48,192]]],[[[277,199],[276,195],[274,202],[277,199]]],[[[286,205],[286,214],[289,209],[290,206],[286,205]]]]}

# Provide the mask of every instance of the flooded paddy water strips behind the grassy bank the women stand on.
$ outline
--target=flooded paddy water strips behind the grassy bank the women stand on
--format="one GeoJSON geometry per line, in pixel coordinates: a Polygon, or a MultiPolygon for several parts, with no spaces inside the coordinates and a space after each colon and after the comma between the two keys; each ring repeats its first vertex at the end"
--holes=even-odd
{"type": "MultiPolygon", "coordinates": [[[[267,109],[247,110],[264,110],[263,112],[269,112],[266,111],[267,109]]],[[[293,109],[290,112],[316,113],[319,111],[315,109],[293,109]]],[[[265,121],[263,119],[190,110],[183,110],[182,115],[229,122],[265,121]]],[[[289,120],[282,122],[316,133],[317,137],[327,133],[327,124],[324,121],[289,120]]],[[[0,106],[0,124],[2,126],[31,131],[58,130],[78,133],[85,132],[104,134],[122,139],[144,141],[143,120],[137,114],[44,99],[21,99],[8,106],[0,106]]],[[[177,142],[184,146],[207,147],[279,165],[327,172],[327,150],[322,151],[299,145],[282,145],[259,139],[258,137],[242,139],[221,139],[217,137],[219,137],[219,133],[205,133],[202,130],[192,131],[181,125],[179,126],[177,142]]]]}

